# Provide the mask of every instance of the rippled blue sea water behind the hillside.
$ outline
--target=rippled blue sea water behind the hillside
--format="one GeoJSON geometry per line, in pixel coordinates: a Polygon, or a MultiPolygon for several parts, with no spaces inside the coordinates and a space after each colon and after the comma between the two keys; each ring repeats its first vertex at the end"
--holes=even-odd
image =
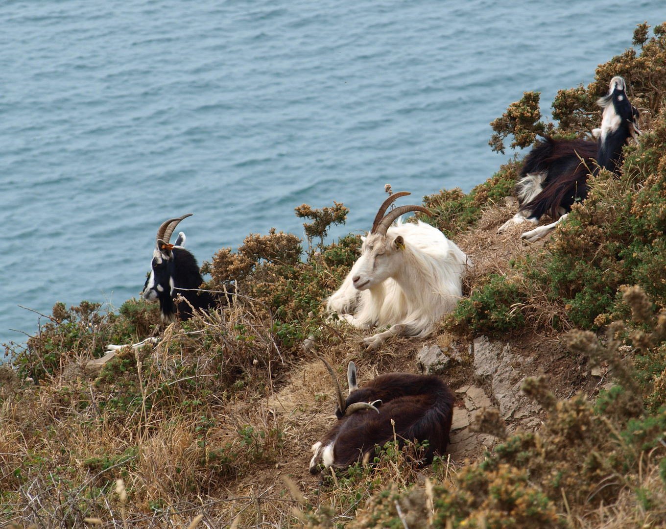
{"type": "Polygon", "coordinates": [[[368,229],[491,177],[488,123],[587,84],[662,1],[0,0],[0,342],[137,296],[169,217],[199,261],[294,207],[368,229]],[[407,202],[404,202],[407,203],[407,202]]]}

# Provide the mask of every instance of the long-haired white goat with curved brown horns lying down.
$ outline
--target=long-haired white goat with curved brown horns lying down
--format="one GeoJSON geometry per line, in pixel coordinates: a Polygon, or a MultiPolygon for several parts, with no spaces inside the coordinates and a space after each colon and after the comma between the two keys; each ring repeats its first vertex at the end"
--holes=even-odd
{"type": "Polygon", "coordinates": [[[389,336],[417,336],[432,332],[434,322],[453,310],[462,296],[462,274],[467,256],[438,229],[417,224],[391,224],[408,211],[430,211],[401,206],[384,212],[398,197],[386,199],[372,230],[363,239],[362,255],[340,288],[327,300],[352,325],[390,329],[364,339],[368,350],[379,348],[389,336]],[[353,315],[352,315],[353,314],[353,315]]]}

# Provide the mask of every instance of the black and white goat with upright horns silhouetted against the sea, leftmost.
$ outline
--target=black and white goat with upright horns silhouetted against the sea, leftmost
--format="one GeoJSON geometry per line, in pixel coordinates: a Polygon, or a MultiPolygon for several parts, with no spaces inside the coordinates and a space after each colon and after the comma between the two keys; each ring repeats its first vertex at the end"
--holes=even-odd
{"type": "Polygon", "coordinates": [[[151,273],[141,292],[148,301],[159,300],[165,321],[175,321],[178,314],[181,320],[188,320],[192,317],[192,306],[197,310],[206,310],[220,300],[220,296],[211,292],[196,290],[204,280],[194,255],[184,248],[185,234],[181,231],[176,243],[169,244],[178,223],[191,215],[192,213],[188,213],[178,219],[169,219],[160,226],[153,251],[151,273]],[[176,302],[178,294],[184,300],[176,302]]]}

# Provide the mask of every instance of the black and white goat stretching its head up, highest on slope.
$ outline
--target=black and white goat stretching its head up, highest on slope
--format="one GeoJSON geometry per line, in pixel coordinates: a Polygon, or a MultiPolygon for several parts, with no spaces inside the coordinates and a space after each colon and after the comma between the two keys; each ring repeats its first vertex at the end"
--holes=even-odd
{"type": "Polygon", "coordinates": [[[511,223],[537,225],[543,215],[549,215],[557,221],[521,235],[529,242],[545,237],[567,218],[574,203],[587,197],[590,173],[596,175],[600,168],[619,173],[622,147],[641,133],[637,126],[639,112],[629,103],[622,77],[611,79],[608,94],[599,98],[597,105],[603,107],[601,129],[592,132],[599,141],[546,137],[525,157],[515,187],[518,212],[500,227],[500,233],[511,223]]]}

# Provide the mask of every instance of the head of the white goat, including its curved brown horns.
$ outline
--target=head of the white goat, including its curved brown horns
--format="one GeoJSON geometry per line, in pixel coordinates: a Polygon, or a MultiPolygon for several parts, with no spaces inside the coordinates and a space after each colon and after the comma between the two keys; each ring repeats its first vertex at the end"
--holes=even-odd
{"type": "Polygon", "coordinates": [[[389,277],[395,277],[404,266],[398,256],[405,250],[405,241],[402,235],[390,237],[387,234],[389,227],[401,215],[410,211],[421,211],[432,217],[430,211],[422,206],[400,206],[386,213],[386,209],[398,198],[410,195],[405,191],[394,193],[384,201],[380,207],[370,233],[363,239],[361,257],[354,263],[352,269],[352,284],[356,290],[372,288],[389,277]]]}

